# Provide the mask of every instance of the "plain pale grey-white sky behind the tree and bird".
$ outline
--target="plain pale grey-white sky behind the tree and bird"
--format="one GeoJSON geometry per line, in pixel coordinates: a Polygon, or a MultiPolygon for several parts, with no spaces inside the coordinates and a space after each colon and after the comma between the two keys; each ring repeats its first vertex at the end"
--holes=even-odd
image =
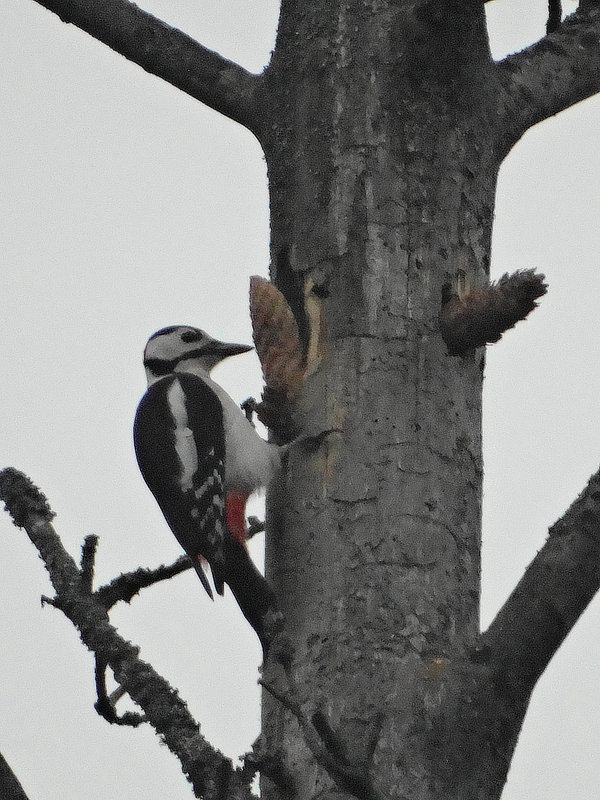
{"type": "MultiPolygon", "coordinates": [[[[259,71],[274,0],[153,0],[144,8],[259,71]]],[[[488,4],[496,56],[539,38],[546,2],[488,4]]],[[[569,5],[567,10],[574,6],[569,5]]],[[[248,276],[266,274],[267,191],[253,137],[32,0],[0,6],[0,464],[48,495],[78,557],[100,536],[102,583],[178,555],[131,444],[141,352],[191,322],[250,341],[248,276]]],[[[538,126],[500,177],[493,276],[546,273],[530,320],[488,351],[483,623],[600,461],[600,102],[538,126]]],[[[254,355],[220,380],[260,393],[254,355]]],[[[260,548],[260,543],[257,543],[260,548]]],[[[93,710],[91,655],[59,612],[26,535],[0,512],[0,752],[30,800],[188,800],[150,728],[93,710]]],[[[146,590],[113,622],[231,756],[258,733],[259,647],[192,574],[146,590]]],[[[600,603],[534,694],[503,800],[597,797],[600,603]]]]}

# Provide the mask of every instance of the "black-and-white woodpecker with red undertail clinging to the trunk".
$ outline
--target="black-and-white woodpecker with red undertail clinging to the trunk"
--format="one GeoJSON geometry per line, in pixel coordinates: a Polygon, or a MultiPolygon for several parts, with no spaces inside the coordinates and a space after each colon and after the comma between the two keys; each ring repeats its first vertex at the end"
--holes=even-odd
{"type": "Polygon", "coordinates": [[[138,406],[134,446],[138,465],[209,597],[210,565],[218,594],[227,583],[263,649],[277,606],[273,591],[246,548],[246,501],[266,487],[282,450],[256,433],[210,372],[248,345],[213,339],[175,325],[154,333],[144,350],[148,389],[138,406]]]}

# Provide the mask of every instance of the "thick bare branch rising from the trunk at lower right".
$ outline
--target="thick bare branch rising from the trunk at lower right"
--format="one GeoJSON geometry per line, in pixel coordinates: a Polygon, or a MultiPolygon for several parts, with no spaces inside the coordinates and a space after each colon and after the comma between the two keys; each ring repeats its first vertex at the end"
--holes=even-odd
{"type": "Polygon", "coordinates": [[[504,686],[528,697],[599,587],[600,470],[482,636],[480,652],[504,686]]]}

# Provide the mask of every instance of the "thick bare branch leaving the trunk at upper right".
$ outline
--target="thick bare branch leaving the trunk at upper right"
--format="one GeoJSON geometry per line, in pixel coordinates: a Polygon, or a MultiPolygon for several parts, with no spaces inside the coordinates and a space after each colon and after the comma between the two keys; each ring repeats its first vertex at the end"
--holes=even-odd
{"type": "Polygon", "coordinates": [[[555,33],[501,61],[497,75],[508,152],[533,125],[600,90],[598,5],[580,3],[555,33]]]}

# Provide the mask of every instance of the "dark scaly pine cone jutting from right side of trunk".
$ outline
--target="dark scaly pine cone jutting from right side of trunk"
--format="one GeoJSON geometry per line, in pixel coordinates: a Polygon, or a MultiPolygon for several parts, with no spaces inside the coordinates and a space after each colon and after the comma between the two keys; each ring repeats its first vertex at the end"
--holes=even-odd
{"type": "Polygon", "coordinates": [[[535,301],[548,290],[544,280],[545,275],[532,269],[505,273],[497,283],[473,289],[462,299],[445,287],[440,329],[450,355],[497,342],[537,307],[535,301]]]}

